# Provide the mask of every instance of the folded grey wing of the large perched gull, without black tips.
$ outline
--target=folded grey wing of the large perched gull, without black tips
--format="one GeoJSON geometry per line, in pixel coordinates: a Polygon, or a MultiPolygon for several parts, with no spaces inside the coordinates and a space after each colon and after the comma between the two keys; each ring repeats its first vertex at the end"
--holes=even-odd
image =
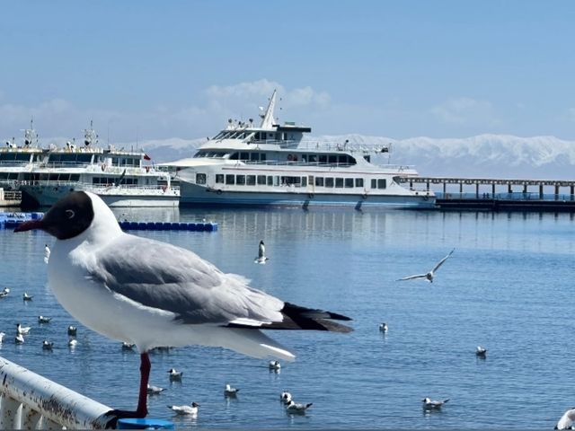
{"type": "Polygon", "coordinates": [[[96,251],[88,277],[184,323],[281,322],[283,301],[224,274],[192,251],[123,234],[96,251]]]}

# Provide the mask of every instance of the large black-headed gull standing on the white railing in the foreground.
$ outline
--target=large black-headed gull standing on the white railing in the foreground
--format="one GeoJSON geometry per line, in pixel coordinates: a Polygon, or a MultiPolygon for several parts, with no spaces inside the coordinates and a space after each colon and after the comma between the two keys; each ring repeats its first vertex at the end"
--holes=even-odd
{"type": "Polygon", "coordinates": [[[349,317],[285,303],[192,251],[122,232],[90,192],[66,195],[14,232],[32,229],[56,237],[48,278],[58,302],[87,328],[140,352],[137,409],[111,410],[111,427],[118,418],[146,417],[153,347],[199,344],[289,361],[295,356],[261,330],[351,330],[332,321],[349,317]]]}

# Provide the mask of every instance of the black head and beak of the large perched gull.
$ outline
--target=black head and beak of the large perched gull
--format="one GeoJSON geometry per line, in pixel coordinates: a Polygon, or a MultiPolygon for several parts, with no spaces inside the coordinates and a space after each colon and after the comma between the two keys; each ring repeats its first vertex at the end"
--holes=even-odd
{"type": "Polygon", "coordinates": [[[92,199],[84,191],[74,191],[58,200],[40,220],[24,222],[14,232],[41,229],[58,240],[69,240],[90,227],[93,215],[92,199]]]}

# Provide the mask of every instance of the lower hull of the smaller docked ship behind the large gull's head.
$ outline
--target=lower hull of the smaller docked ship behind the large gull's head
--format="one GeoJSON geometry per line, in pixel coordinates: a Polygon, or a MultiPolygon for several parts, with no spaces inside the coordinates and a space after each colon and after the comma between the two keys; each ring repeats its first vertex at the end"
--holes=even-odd
{"type": "Polygon", "coordinates": [[[21,187],[22,201],[26,207],[51,207],[70,191],[84,190],[97,194],[109,207],[178,207],[179,193],[171,189],[122,189],[89,188],[82,185],[71,187],[48,185],[25,185],[21,187]]]}

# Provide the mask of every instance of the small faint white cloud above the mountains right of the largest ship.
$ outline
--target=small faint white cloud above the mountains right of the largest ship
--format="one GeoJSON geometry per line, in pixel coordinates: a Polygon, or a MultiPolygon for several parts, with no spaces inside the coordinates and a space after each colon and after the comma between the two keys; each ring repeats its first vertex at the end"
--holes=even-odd
{"type": "Polygon", "coordinates": [[[430,112],[445,123],[461,126],[493,126],[499,123],[489,101],[477,101],[468,97],[449,99],[431,108],[430,112]]]}

